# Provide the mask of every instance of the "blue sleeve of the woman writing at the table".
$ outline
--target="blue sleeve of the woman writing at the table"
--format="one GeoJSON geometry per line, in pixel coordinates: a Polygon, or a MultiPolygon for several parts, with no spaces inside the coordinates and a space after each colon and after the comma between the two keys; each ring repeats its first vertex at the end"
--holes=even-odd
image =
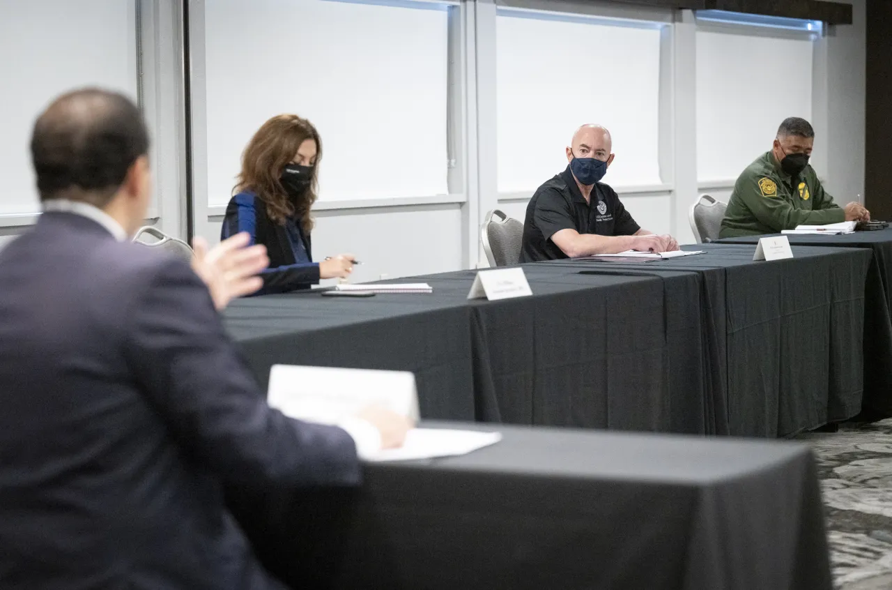
{"type": "MultiPolygon", "coordinates": [[[[245,198],[243,195],[235,196],[229,202],[220,229],[221,240],[244,231],[251,236],[252,245],[257,243],[256,202],[255,197],[245,198]]],[[[318,284],[319,265],[317,262],[305,262],[271,267],[263,270],[260,278],[263,279],[263,287],[254,295],[305,289],[318,284]]]]}

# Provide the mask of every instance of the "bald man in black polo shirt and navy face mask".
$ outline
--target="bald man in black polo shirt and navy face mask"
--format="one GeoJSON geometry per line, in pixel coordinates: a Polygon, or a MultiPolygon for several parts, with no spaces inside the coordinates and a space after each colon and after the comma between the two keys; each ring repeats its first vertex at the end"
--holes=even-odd
{"type": "Polygon", "coordinates": [[[610,132],[600,125],[576,130],[566,148],[566,170],[539,187],[526,207],[520,262],[678,250],[673,237],[641,229],[615,190],[599,182],[614,160],[612,147],[610,132]]]}

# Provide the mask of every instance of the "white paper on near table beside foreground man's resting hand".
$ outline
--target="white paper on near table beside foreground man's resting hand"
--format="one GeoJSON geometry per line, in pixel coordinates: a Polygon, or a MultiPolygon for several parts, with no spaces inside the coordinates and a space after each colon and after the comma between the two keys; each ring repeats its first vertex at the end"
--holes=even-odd
{"type": "Polygon", "coordinates": [[[501,440],[500,432],[476,432],[475,430],[442,430],[440,428],[413,428],[406,442],[398,449],[384,449],[368,457],[367,461],[411,461],[436,457],[457,457],[495,445],[501,440]]]}

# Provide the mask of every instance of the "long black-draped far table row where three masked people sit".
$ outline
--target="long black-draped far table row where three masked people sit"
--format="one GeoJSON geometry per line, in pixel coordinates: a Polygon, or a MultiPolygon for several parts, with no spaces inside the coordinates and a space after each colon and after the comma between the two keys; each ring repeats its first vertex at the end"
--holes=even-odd
{"type": "Polygon", "coordinates": [[[526,264],[531,297],[467,301],[466,270],[406,279],[430,295],[246,298],[225,320],[261,386],[277,363],[408,370],[425,420],[775,437],[861,411],[870,250],[696,247],[526,264]]]}

